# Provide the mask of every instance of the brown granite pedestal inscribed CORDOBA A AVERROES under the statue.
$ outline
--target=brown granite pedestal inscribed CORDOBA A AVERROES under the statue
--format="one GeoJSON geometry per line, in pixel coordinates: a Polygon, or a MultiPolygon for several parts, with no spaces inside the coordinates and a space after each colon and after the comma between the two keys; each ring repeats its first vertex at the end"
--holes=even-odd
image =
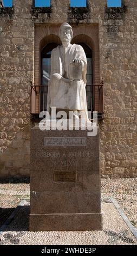
{"type": "Polygon", "coordinates": [[[101,230],[99,132],[31,130],[30,231],[101,230]]]}

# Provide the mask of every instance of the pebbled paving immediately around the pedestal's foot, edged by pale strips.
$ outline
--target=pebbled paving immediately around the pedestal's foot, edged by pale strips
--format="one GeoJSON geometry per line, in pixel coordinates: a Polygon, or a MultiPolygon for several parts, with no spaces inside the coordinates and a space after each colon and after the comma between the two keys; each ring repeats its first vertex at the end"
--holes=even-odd
{"type": "Polygon", "coordinates": [[[103,198],[102,231],[30,232],[29,201],[24,201],[1,235],[0,245],[137,245],[125,221],[110,199],[103,198]]]}

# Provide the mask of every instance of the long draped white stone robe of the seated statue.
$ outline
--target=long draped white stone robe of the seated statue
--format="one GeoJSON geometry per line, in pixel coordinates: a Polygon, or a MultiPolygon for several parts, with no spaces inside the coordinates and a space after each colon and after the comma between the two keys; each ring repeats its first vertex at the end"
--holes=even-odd
{"type": "Polygon", "coordinates": [[[51,107],[73,111],[83,110],[87,115],[86,74],[87,58],[82,46],[73,44],[66,48],[62,46],[54,48],[51,52],[51,78],[48,89],[47,110],[49,111],[51,107]],[[73,80],[70,83],[58,80],[54,74],[60,74],[62,77],[71,79],[70,63],[76,58],[80,58],[84,62],[82,79],[73,80]]]}

